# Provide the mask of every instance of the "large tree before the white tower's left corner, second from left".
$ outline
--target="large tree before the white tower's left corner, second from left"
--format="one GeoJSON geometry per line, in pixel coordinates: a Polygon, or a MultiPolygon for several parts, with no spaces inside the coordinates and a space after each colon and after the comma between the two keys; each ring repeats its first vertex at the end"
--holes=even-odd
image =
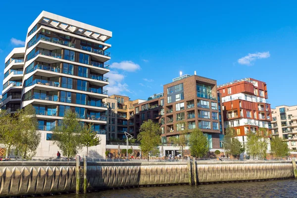
{"type": "Polygon", "coordinates": [[[18,112],[17,126],[13,130],[18,130],[15,148],[21,156],[32,157],[36,154],[41,141],[41,133],[38,129],[35,108],[29,104],[18,112]]]}

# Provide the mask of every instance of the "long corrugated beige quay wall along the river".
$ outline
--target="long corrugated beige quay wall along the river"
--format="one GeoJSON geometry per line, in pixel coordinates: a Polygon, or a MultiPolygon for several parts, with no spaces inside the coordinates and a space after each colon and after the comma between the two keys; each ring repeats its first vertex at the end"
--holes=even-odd
{"type": "MultiPolygon", "coordinates": [[[[83,163],[80,189],[83,190],[83,163]]],[[[293,178],[292,161],[88,162],[87,189],[293,178]]],[[[76,162],[0,162],[0,197],[74,192],[76,162]]]]}

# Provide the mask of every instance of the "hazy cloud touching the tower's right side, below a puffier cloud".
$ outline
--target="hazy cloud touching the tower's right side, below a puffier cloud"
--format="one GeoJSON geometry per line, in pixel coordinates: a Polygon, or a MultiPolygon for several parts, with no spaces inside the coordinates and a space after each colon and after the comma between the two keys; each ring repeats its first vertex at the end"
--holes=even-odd
{"type": "Polygon", "coordinates": [[[114,94],[124,95],[123,92],[132,93],[128,89],[128,85],[126,83],[123,83],[123,80],[125,79],[125,76],[123,74],[110,71],[105,76],[109,78],[109,85],[105,87],[106,90],[108,90],[109,96],[114,94]]]}

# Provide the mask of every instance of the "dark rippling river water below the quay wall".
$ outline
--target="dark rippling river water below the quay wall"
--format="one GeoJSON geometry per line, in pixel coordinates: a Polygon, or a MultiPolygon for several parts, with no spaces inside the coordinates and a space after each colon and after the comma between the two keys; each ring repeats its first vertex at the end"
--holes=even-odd
{"type": "Polygon", "coordinates": [[[53,198],[297,198],[297,180],[143,187],[53,198]]]}

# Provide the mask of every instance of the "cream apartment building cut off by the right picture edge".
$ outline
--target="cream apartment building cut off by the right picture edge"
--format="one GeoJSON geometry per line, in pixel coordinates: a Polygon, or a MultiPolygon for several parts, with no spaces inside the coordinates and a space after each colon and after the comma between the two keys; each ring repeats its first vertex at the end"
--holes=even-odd
{"type": "Polygon", "coordinates": [[[297,105],[276,106],[272,111],[272,135],[287,142],[288,148],[297,150],[297,105]]]}

